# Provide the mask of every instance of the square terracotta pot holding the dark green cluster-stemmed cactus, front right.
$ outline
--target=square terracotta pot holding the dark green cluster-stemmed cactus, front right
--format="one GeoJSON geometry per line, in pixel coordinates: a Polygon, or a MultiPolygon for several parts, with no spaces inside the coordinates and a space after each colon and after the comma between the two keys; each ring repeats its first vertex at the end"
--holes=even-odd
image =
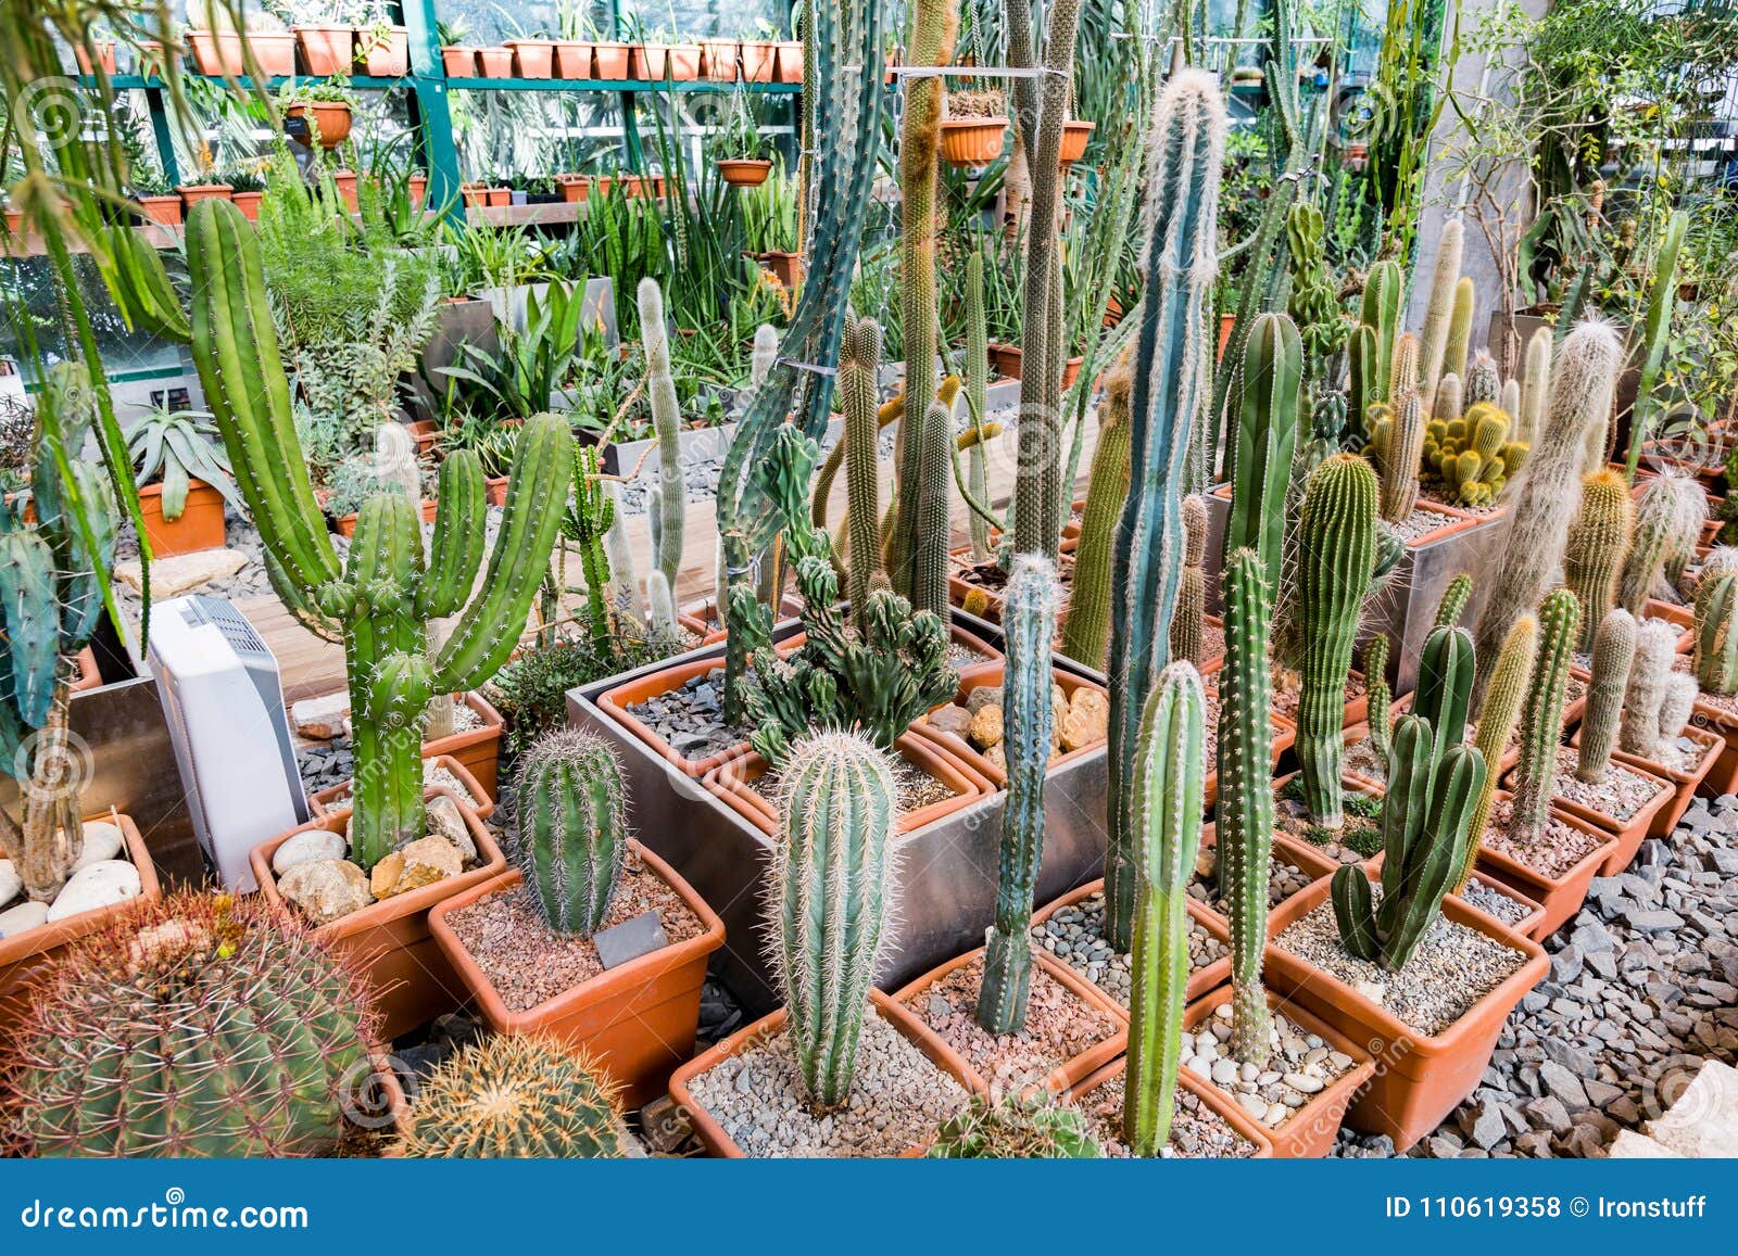
{"type": "MultiPolygon", "coordinates": [[[[1328,883],[1319,881],[1274,909],[1267,936],[1279,938],[1286,928],[1326,902],[1328,883]]],[[[1342,1037],[1364,1044],[1375,1058],[1375,1074],[1347,1119],[1354,1129],[1389,1134],[1396,1150],[1404,1150],[1434,1131],[1472,1093],[1484,1075],[1509,1013],[1550,969],[1550,961],[1536,942],[1505,929],[1458,898],[1443,900],[1443,916],[1521,952],[1524,962],[1441,1034],[1418,1034],[1276,942],[1269,942],[1264,961],[1269,987],[1281,992],[1290,1006],[1304,1008],[1342,1037]]]]}

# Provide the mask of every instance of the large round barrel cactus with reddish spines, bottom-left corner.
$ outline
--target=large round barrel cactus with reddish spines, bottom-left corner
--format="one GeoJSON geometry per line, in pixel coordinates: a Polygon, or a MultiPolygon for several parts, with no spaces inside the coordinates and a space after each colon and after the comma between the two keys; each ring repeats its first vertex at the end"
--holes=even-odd
{"type": "Polygon", "coordinates": [[[141,903],[75,943],[7,1027],[0,1145],[330,1155],[344,1087],[367,1077],[367,999],[346,959],[264,898],[141,903]]]}

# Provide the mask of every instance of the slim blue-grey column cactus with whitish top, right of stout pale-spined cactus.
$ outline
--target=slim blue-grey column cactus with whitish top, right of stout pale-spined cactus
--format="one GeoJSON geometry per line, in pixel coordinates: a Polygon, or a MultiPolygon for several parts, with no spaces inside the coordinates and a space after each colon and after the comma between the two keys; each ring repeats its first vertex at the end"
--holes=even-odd
{"type": "Polygon", "coordinates": [[[1025,1025],[1032,990],[1032,895],[1045,855],[1045,770],[1055,707],[1050,700],[1050,639],[1057,632],[1057,570],[1048,558],[1018,554],[1008,573],[1001,624],[1006,669],[1001,690],[1008,801],[1001,811],[996,924],[984,957],[977,1018],[991,1034],[1025,1025]]]}

